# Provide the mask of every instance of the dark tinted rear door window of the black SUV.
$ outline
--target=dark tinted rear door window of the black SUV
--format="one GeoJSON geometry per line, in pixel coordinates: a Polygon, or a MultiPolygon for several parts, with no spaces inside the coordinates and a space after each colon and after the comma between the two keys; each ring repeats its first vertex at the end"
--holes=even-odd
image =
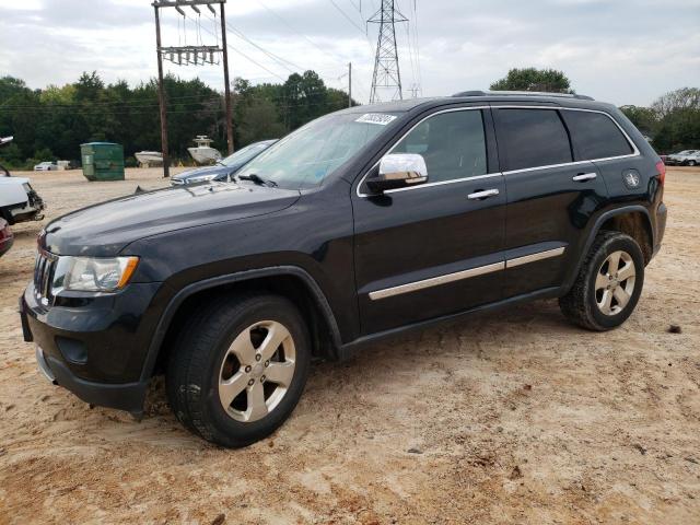
{"type": "Polygon", "coordinates": [[[506,170],[563,164],[572,161],[567,128],[552,109],[499,109],[499,144],[506,170]]]}

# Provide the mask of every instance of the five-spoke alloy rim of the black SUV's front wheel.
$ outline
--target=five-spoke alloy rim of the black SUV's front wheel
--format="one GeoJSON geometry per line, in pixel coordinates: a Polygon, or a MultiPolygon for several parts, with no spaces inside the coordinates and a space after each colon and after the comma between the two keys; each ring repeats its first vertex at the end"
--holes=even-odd
{"type": "Polygon", "coordinates": [[[294,376],[296,350],[276,320],[248,326],[233,340],[219,372],[219,399],[242,422],[257,421],[280,404],[294,376]]]}

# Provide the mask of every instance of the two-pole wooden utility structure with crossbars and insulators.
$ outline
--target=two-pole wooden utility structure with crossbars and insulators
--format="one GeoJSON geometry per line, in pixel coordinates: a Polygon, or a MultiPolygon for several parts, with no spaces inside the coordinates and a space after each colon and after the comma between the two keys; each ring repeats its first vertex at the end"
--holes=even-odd
{"type": "MultiPolygon", "coordinates": [[[[223,80],[225,83],[224,97],[226,108],[226,139],[229,142],[229,154],[233,153],[233,119],[231,110],[231,85],[229,82],[229,49],[226,46],[226,14],[223,4],[226,0],[153,0],[153,9],[155,10],[155,45],[158,50],[158,93],[161,106],[161,144],[163,150],[163,176],[170,177],[170,155],[167,148],[167,101],[165,100],[165,88],[163,85],[163,60],[170,60],[178,66],[206,65],[214,63],[214,56],[221,54],[223,56],[223,80]],[[163,8],[175,8],[183,20],[186,18],[183,8],[191,8],[198,15],[201,14],[199,5],[206,5],[214,16],[217,11],[213,5],[219,4],[221,19],[221,46],[217,38],[215,46],[205,46],[201,42],[195,46],[171,46],[163,47],[161,45],[161,18],[159,10],[163,8]]],[[[183,22],[183,27],[185,24],[183,22]]],[[[179,26],[178,26],[179,31],[179,26]]],[[[215,63],[219,63],[218,61],[215,63]]]]}

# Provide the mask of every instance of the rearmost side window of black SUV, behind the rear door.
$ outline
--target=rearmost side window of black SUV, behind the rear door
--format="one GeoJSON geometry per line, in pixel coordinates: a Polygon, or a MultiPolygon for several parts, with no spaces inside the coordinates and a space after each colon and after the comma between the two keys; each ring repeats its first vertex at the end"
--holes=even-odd
{"type": "Polygon", "coordinates": [[[606,115],[591,112],[561,112],[581,160],[629,155],[632,147],[620,128],[606,115]]]}

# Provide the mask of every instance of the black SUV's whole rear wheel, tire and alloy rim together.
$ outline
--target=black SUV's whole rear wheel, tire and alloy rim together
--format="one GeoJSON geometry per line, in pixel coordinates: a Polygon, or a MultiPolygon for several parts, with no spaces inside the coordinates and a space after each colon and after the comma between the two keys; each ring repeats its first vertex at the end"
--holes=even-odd
{"type": "Polygon", "coordinates": [[[600,232],[559,307],[588,330],[620,326],[634,311],[644,284],[644,256],[629,235],[600,232]]]}

